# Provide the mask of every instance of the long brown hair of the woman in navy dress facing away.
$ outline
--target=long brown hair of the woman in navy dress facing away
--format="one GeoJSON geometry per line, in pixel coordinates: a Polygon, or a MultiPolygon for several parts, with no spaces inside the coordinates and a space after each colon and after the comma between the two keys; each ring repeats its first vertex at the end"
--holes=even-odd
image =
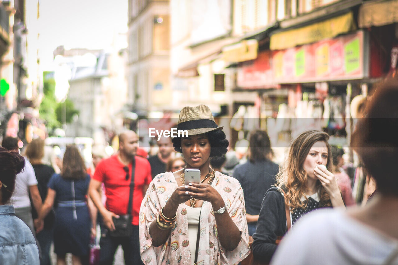
{"type": "Polygon", "coordinates": [[[61,176],[64,179],[84,179],[86,177],[86,165],[77,146],[66,146],[64,159],[62,160],[61,176]]]}

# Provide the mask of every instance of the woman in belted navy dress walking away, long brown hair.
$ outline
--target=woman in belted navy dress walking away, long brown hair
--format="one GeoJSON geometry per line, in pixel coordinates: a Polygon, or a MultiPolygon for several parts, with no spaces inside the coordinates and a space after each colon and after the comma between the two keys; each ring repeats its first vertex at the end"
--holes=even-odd
{"type": "Polygon", "coordinates": [[[93,225],[90,204],[86,199],[89,183],[90,175],[86,172],[78,147],[67,146],[61,173],[51,177],[47,197],[39,213],[39,221],[43,222],[53,205],[56,205],[53,235],[58,265],[66,264],[66,253],[72,253],[74,265],[85,264],[88,260],[90,228],[93,225]]]}

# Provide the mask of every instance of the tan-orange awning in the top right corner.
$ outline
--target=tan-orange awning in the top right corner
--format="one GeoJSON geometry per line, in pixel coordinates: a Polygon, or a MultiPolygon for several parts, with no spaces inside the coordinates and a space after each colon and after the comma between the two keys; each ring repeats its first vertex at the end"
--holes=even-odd
{"type": "Polygon", "coordinates": [[[398,0],[365,2],[359,8],[359,27],[383,26],[398,22],[398,0]]]}

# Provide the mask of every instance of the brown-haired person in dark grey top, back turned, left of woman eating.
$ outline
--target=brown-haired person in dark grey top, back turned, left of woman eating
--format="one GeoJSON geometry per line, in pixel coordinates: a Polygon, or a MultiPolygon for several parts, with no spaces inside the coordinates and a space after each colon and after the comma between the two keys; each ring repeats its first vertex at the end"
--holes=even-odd
{"type": "Polygon", "coordinates": [[[260,213],[260,201],[265,192],[276,183],[278,165],[273,163],[271,141],[266,131],[256,130],[250,133],[248,161],[236,166],[233,177],[238,179],[245,196],[246,220],[249,236],[256,232],[260,213]]]}

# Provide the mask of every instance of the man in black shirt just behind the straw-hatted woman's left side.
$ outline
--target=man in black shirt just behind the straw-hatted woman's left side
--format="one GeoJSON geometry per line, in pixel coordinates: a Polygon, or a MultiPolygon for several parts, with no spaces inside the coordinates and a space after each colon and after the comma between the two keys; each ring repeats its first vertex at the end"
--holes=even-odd
{"type": "Polygon", "coordinates": [[[174,157],[174,148],[170,137],[161,136],[158,141],[158,153],[148,158],[152,171],[152,178],[159,173],[166,172],[166,165],[174,157]]]}

